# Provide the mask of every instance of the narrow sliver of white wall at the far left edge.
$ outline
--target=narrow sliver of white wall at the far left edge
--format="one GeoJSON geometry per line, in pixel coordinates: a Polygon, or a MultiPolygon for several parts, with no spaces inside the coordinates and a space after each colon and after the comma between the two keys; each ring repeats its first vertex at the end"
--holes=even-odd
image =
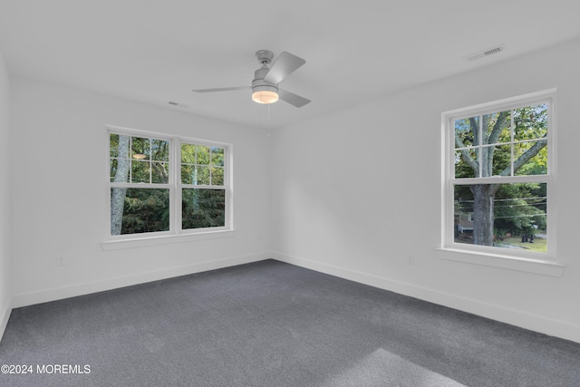
{"type": "Polygon", "coordinates": [[[8,72],[0,53],[0,338],[10,316],[10,138],[8,72]]]}

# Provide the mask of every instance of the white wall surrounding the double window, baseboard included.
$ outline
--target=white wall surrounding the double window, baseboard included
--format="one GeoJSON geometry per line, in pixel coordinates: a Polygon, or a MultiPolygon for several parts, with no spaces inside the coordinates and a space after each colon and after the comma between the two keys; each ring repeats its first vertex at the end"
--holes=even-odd
{"type": "Polygon", "coordinates": [[[16,76],[11,102],[14,307],[237,265],[269,251],[265,131],[16,76]],[[232,143],[235,236],[103,251],[106,124],[232,143]]]}

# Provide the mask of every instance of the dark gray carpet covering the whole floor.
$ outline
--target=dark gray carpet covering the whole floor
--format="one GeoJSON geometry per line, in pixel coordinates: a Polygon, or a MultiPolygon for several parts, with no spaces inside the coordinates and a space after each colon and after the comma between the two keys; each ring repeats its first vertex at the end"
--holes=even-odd
{"type": "Polygon", "coordinates": [[[15,309],[0,364],[33,372],[3,386],[580,386],[578,343],[273,260],[15,309]]]}

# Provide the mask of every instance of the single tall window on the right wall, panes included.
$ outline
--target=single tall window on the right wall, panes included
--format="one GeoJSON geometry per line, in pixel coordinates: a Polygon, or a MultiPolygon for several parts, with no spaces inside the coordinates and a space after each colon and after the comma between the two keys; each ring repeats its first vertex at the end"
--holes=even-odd
{"type": "Polygon", "coordinates": [[[553,259],[554,94],[443,113],[443,247],[553,259]]]}

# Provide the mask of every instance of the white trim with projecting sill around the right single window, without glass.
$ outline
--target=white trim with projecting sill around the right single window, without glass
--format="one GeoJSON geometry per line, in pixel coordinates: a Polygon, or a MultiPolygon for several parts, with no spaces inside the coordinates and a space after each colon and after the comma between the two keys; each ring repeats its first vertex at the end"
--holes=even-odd
{"type": "MultiPolygon", "coordinates": [[[[510,270],[524,271],[528,273],[546,276],[562,276],[564,265],[556,262],[556,89],[543,92],[533,92],[504,100],[482,103],[467,108],[441,113],[441,237],[437,256],[441,259],[459,261],[463,263],[500,267],[510,270]],[[547,237],[548,251],[546,254],[522,252],[518,250],[502,249],[499,247],[474,246],[455,243],[453,238],[453,170],[454,164],[451,158],[452,150],[455,149],[455,139],[451,135],[451,121],[460,118],[473,117],[490,111],[505,111],[521,106],[529,106],[537,102],[548,102],[548,131],[547,150],[548,163],[547,175],[534,177],[491,177],[485,178],[488,183],[513,183],[521,179],[527,181],[546,181],[548,185],[547,212],[548,218],[547,237]],[[507,251],[506,251],[507,250],[507,251]]],[[[471,179],[462,179],[469,182],[471,179]]],[[[480,179],[473,179],[480,182],[480,179]]]]}

